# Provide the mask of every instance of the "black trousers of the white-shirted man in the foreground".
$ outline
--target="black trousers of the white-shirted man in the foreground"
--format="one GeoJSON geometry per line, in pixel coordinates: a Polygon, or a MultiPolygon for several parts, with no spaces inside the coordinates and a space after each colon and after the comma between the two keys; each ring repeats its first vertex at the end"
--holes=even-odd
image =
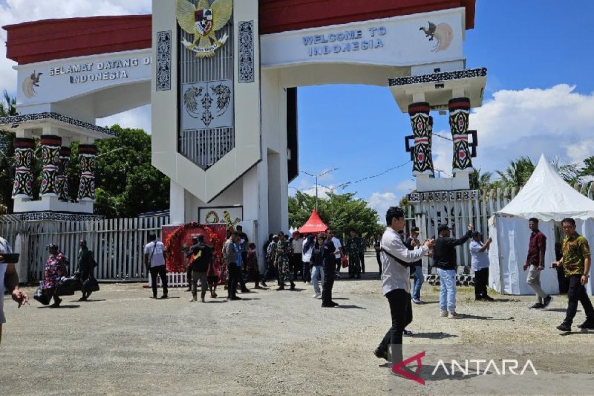
{"type": "Polygon", "coordinates": [[[403,289],[395,289],[386,294],[390,304],[392,327],[386,332],[378,349],[388,351],[392,347],[392,362],[402,362],[402,332],[412,322],[412,304],[410,294],[403,289]]]}

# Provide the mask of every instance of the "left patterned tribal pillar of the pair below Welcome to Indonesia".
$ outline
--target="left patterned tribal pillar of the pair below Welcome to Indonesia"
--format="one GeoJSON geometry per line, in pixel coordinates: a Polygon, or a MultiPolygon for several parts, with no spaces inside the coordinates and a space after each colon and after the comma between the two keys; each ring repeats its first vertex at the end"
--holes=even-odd
{"type": "Polygon", "coordinates": [[[431,157],[433,118],[429,116],[429,110],[427,102],[409,105],[410,123],[415,134],[412,165],[412,174],[415,176],[433,175],[433,159],[431,157]]]}

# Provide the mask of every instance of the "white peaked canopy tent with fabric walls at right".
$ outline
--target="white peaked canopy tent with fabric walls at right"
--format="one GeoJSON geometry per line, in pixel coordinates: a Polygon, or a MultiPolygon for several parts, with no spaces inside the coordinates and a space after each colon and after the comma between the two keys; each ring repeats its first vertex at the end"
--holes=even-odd
{"type": "MultiPolygon", "coordinates": [[[[536,165],[526,185],[502,210],[489,219],[489,286],[504,294],[534,294],[526,284],[526,261],[530,230],[528,219],[536,217],[546,236],[545,270],[541,286],[546,293],[558,294],[557,271],[549,268],[555,261],[555,222],[565,217],[576,220],[577,232],[594,248],[594,201],[574,190],[551,168],[545,156],[536,165]]],[[[563,232],[561,232],[563,233],[563,232]]],[[[590,269],[590,275],[594,271],[590,269]]],[[[592,280],[586,285],[594,294],[592,280]]]]}

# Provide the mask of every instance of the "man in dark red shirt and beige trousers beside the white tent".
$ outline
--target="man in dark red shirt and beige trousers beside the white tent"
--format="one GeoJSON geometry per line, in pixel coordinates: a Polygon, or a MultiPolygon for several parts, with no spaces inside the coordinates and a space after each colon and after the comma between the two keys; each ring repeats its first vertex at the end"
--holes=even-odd
{"type": "Polygon", "coordinates": [[[553,299],[541,288],[541,271],[545,268],[546,236],[538,229],[538,218],[530,218],[528,227],[532,231],[532,235],[530,235],[528,243],[528,256],[524,263],[524,271],[528,270],[526,283],[536,293],[536,303],[530,308],[546,308],[553,299]]]}

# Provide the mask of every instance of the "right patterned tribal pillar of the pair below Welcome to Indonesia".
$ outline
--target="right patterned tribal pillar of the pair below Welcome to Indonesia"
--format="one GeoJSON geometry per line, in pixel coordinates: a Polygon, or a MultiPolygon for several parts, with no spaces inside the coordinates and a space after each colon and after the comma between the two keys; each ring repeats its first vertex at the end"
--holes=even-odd
{"type": "Polygon", "coordinates": [[[448,102],[450,107],[451,137],[454,141],[454,159],[452,172],[471,172],[472,159],[468,147],[468,117],[470,114],[470,99],[458,97],[448,102]]]}

